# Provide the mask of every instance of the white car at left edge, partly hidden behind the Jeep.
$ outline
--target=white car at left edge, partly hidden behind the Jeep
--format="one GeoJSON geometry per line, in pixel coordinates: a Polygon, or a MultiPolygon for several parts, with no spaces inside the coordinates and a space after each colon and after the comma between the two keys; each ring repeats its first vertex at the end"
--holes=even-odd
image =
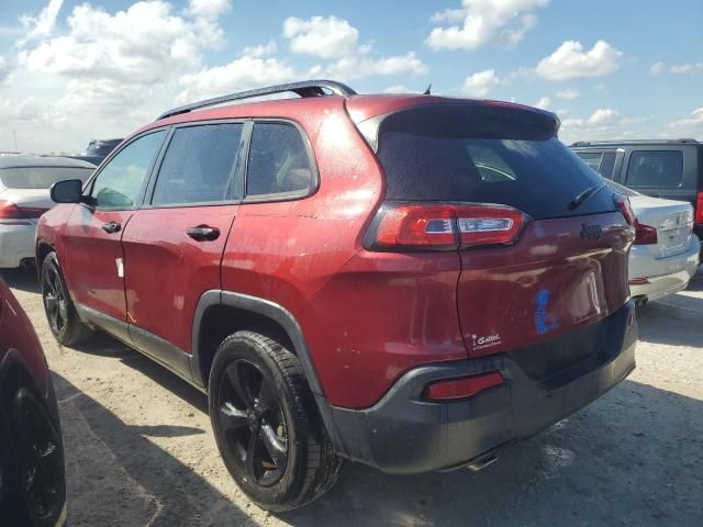
{"type": "Polygon", "coordinates": [[[34,231],[54,202],[49,187],[64,179],[87,181],[94,165],[64,157],[0,157],[0,268],[34,262],[34,231]]]}

